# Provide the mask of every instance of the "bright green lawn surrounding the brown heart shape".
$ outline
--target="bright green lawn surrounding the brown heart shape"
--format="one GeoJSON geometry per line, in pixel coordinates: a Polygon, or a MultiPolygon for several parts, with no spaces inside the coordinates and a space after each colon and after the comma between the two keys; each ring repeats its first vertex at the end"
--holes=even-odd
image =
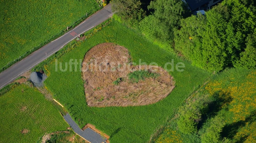
{"type": "MultiPolygon", "coordinates": [[[[126,47],[132,57],[133,62],[149,64],[156,62],[158,66],[164,66],[166,62],[174,59],[174,64],[183,62],[185,70],[183,72],[170,72],[174,77],[176,87],[162,101],[136,107],[88,107],[84,95],[83,80],[81,72],[55,71],[55,59],[45,66],[48,78],[45,85],[54,94],[54,97],[65,106],[74,120],[83,127],[86,123],[96,126],[99,130],[110,135],[110,142],[147,142],[152,134],[156,132],[167,120],[174,116],[174,113],[184,99],[186,99],[195,89],[199,88],[210,73],[193,67],[189,62],[177,58],[157,45],[146,40],[141,34],[134,32],[130,28],[124,27],[117,21],[112,20],[110,24],[98,30],[94,30],[93,36],[83,42],[78,42],[77,46],[66,47],[58,62],[69,62],[70,59],[83,59],[90,48],[103,42],[113,42],[126,47]],[[97,32],[98,31],[98,32],[97,32]]],[[[64,64],[64,63],[63,63],[64,64]]],[[[170,68],[170,66],[168,66],[170,68]]],[[[69,69],[69,67],[68,67],[69,69]]]]}

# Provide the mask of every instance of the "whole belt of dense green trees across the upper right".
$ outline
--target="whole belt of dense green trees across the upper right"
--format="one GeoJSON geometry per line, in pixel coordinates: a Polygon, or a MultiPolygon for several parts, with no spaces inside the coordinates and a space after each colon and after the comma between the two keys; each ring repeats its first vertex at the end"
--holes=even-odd
{"type": "Polygon", "coordinates": [[[219,72],[226,67],[256,66],[256,3],[224,0],[192,15],[181,0],[113,0],[113,10],[127,26],[169,45],[196,67],[219,72]]]}

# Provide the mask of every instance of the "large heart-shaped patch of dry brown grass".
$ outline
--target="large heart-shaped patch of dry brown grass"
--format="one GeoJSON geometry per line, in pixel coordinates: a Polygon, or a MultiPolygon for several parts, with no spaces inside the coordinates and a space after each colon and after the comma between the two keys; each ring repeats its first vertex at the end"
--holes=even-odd
{"type": "Polygon", "coordinates": [[[174,89],[173,78],[161,67],[134,66],[126,48],[103,43],[89,50],[82,73],[88,106],[153,104],[174,89]]]}

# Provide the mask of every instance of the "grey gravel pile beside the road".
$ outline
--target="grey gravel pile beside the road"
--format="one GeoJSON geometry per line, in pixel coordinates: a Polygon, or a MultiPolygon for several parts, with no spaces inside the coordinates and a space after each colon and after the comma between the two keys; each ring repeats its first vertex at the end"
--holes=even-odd
{"type": "Polygon", "coordinates": [[[47,76],[45,74],[42,74],[40,72],[32,72],[30,74],[30,81],[36,86],[36,87],[40,87],[43,85],[43,82],[45,81],[45,79],[47,78],[47,76]]]}

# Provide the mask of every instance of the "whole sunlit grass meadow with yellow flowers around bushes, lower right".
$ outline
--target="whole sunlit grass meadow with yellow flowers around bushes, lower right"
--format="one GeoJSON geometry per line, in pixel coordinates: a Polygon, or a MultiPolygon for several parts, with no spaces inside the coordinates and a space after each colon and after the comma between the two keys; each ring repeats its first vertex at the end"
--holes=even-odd
{"type": "Polygon", "coordinates": [[[186,135],[177,128],[176,120],[170,122],[163,133],[156,139],[160,142],[175,142],[169,134],[176,133],[175,139],[183,142],[201,142],[200,136],[205,133],[211,125],[211,118],[222,115],[225,126],[222,128],[221,137],[228,137],[233,142],[255,142],[256,141],[256,71],[246,69],[226,69],[210,79],[204,87],[200,88],[195,96],[205,94],[216,94],[231,101],[223,104],[220,110],[217,107],[205,115],[207,119],[200,123],[198,133],[186,135]]]}

